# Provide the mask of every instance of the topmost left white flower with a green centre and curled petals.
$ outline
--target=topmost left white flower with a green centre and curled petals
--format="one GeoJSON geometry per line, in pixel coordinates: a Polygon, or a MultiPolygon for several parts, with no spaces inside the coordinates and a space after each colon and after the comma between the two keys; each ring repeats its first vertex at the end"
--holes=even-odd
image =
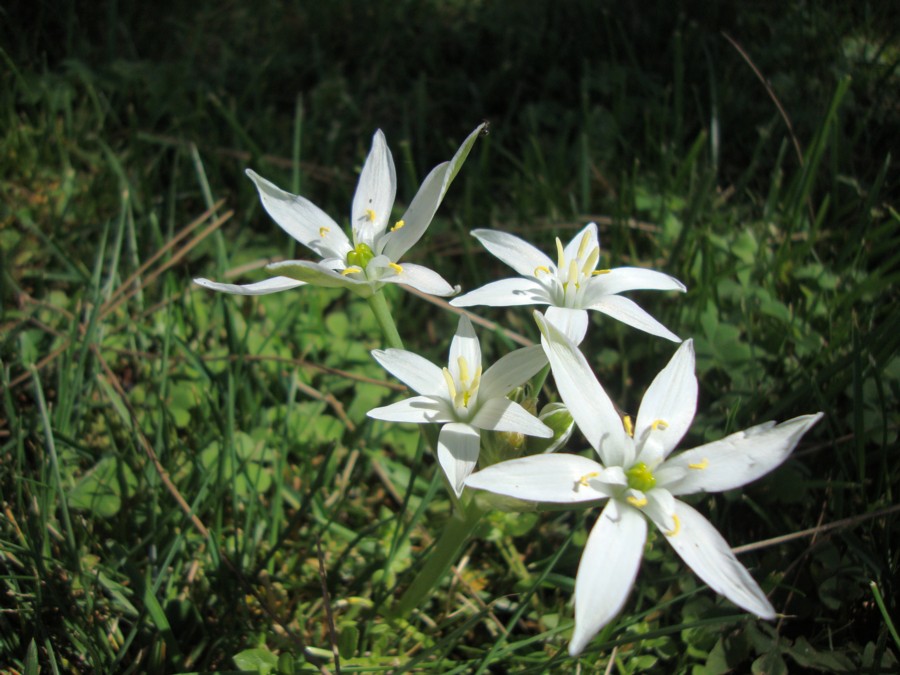
{"type": "Polygon", "coordinates": [[[484,125],[469,134],[449,162],[439,164],[419,188],[403,217],[390,225],[397,192],[394,160],[384,134],[376,131],[353,197],[350,228],[352,241],[343,229],[311,201],[278,188],[247,169],[256,184],[263,208],[289,235],[322,257],[319,262],[289,260],[273,263],[276,276],[254,284],[224,284],[194,279],[206,288],[239,295],[276,293],[304,284],[348,288],[369,297],[386,283],[407,284],[432,295],[452,295],[450,286],[437,272],[411,263],[400,264],[403,255],[431,224],[450,183],[459,172],[484,125]]]}

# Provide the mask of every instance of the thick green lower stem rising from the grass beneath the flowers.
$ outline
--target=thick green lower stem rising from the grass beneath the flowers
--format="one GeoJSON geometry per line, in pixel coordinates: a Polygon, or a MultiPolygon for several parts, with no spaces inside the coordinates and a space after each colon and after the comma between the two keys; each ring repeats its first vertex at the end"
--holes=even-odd
{"type": "Polygon", "coordinates": [[[463,546],[478,526],[484,511],[474,500],[460,500],[457,512],[441,533],[440,538],[428,554],[428,559],[413,579],[406,593],[391,610],[395,619],[405,619],[417,607],[421,607],[432,590],[456,562],[463,546]],[[468,502],[468,503],[465,503],[468,502]]]}

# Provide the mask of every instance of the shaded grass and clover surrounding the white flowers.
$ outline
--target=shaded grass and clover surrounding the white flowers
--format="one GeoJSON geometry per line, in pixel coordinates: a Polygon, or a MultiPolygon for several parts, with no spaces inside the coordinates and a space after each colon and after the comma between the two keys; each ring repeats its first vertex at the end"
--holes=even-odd
{"type": "MultiPolygon", "coordinates": [[[[900,17],[889,3],[12,3],[0,22],[0,667],[7,672],[896,672],[900,17]],[[408,622],[450,505],[363,304],[235,298],[305,257],[253,167],[340,219],[373,131],[409,200],[482,119],[418,259],[474,288],[475,227],[664,269],[694,337],[685,441],[826,418],[702,507],[768,624],[651,538],[625,613],[566,656],[595,512],[494,514],[408,622]],[[797,538],[773,537],[811,530],[797,538]],[[334,654],[338,654],[339,661],[334,654]],[[236,655],[240,655],[235,658],[236,655]],[[277,661],[276,661],[277,659],[277,661]],[[267,670],[268,669],[268,670],[267,670]]],[[[391,296],[440,361],[455,317],[391,296]]],[[[527,312],[483,315],[534,337],[527,312]]],[[[671,346],[601,321],[633,410],[671,346]]],[[[482,330],[489,354],[511,347],[482,330]]],[[[570,448],[585,447],[574,439],[570,448]]]]}

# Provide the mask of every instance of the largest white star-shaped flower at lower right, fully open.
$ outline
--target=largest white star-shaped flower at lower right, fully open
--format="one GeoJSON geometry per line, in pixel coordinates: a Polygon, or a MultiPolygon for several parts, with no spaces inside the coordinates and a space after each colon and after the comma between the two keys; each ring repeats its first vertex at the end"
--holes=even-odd
{"type": "Polygon", "coordinates": [[[495,464],[466,484],[531,501],[609,500],[578,566],[569,653],[580,653],[625,604],[644,550],[647,519],[713,590],[759,617],[774,618],[772,605],[722,535],[676,497],[730,490],[768,473],[822,413],[755,426],[670,458],[696,411],[692,342],[682,344],[653,380],[632,424],[616,412],[578,348],[535,315],[559,394],[600,462],[534,455],[495,464]]]}

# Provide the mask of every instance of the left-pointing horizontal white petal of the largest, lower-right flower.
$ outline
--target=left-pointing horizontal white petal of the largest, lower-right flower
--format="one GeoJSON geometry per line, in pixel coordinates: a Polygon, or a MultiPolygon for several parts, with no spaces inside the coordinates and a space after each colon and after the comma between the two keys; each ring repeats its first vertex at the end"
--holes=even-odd
{"type": "Polygon", "coordinates": [[[609,497],[601,476],[603,466],[580,455],[531,455],[494,464],[466,480],[466,485],[531,502],[576,504],[609,497]]]}

